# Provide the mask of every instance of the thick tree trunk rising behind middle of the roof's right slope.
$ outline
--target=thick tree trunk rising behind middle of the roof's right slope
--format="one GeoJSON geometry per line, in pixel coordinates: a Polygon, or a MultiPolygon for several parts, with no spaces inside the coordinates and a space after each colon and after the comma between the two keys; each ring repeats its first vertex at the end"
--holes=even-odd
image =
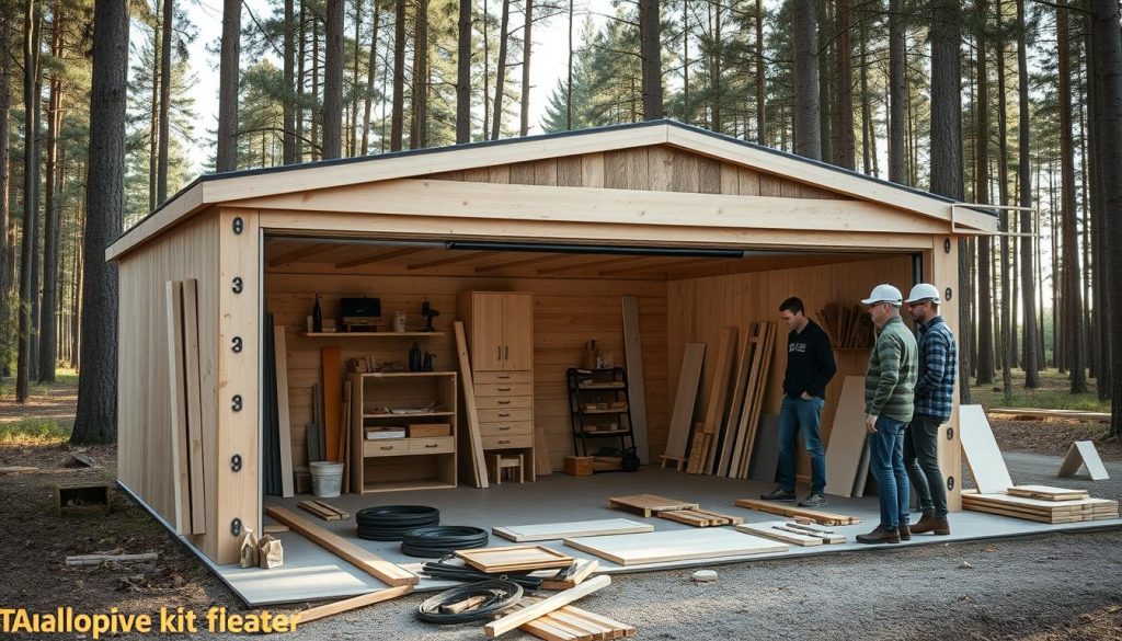
{"type": "Polygon", "coordinates": [[[821,159],[821,113],[818,104],[818,28],[815,2],[792,0],[794,29],[794,153],[821,159]]]}

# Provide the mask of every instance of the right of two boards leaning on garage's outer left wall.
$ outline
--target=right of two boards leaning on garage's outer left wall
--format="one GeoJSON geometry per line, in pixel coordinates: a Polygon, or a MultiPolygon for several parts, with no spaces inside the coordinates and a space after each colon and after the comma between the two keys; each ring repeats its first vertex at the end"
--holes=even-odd
{"type": "Polygon", "coordinates": [[[202,373],[199,366],[199,282],[183,282],[183,354],[187,382],[187,469],[191,533],[206,533],[206,476],[203,465],[202,373]]]}

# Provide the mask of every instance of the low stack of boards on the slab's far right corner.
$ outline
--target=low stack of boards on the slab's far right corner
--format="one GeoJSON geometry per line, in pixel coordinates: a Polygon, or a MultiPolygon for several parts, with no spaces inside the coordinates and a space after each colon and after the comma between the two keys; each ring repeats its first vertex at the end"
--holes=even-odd
{"type": "Polygon", "coordinates": [[[1031,498],[1014,494],[977,494],[963,492],[963,507],[975,512],[999,514],[1024,519],[1040,523],[1079,523],[1083,521],[1102,521],[1119,518],[1119,502],[1107,498],[1092,498],[1084,494],[1079,498],[1070,496],[1063,488],[1043,488],[1043,486],[1024,486],[1017,488],[1024,494],[1052,496],[1051,498],[1031,498]],[[1026,489],[1026,487],[1030,489],[1026,489]],[[1059,492],[1049,493],[1049,489],[1059,492]]]}

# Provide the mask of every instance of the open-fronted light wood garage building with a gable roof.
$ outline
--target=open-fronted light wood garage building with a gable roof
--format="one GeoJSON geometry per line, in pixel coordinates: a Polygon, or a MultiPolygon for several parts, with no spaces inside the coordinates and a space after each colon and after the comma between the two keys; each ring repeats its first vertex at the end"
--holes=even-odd
{"type": "MultiPolygon", "coordinates": [[[[620,299],[635,296],[656,460],[684,344],[715,354],[724,328],[776,320],[789,295],[815,318],[877,283],[907,293],[920,280],[947,289],[942,312],[957,329],[956,240],[995,230],[993,216],[946,199],[665,120],[203,176],[107,251],[120,267],[119,480],[204,555],[234,561],[231,524],[260,532],[261,523],[265,314],[285,326],[301,466],[321,348],[339,347],[341,364],[405,360],[416,339],[435,369],[454,372],[452,321],[476,313],[463,311],[470,292],[530,294],[499,309],[528,305],[518,313],[532,317],[532,330],[506,340],[516,352],[528,345],[513,367],[532,391],[522,409],[558,469],[573,447],[564,370],[589,339],[623,361],[620,299]],[[173,442],[184,419],[173,411],[169,281],[196,287],[197,331],[184,338],[197,346],[197,391],[188,391],[197,429],[186,454],[173,442]],[[340,297],[376,296],[387,324],[402,310],[411,329],[427,300],[441,312],[440,333],[309,336],[316,294],[325,318],[338,315],[340,297]]],[[[863,374],[867,358],[837,356],[824,432],[840,381],[863,374]]],[[[776,349],[765,412],[779,408],[784,361],[776,349]]],[[[944,470],[957,476],[957,430],[940,443],[944,470]]]]}

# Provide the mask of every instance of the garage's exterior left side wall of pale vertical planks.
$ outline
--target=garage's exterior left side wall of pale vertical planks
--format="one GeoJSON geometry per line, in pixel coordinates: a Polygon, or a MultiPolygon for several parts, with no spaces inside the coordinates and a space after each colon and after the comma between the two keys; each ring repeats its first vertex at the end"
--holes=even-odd
{"type": "MultiPolygon", "coordinates": [[[[150,509],[175,522],[171,383],[165,283],[199,282],[199,366],[202,374],[204,491],[215,496],[218,217],[204,212],[126,256],[120,269],[118,341],[118,477],[150,509]]],[[[208,501],[208,506],[210,501],[208,501]]],[[[206,531],[217,531],[208,510],[206,531]]],[[[206,547],[206,535],[192,538],[206,547]]]]}

